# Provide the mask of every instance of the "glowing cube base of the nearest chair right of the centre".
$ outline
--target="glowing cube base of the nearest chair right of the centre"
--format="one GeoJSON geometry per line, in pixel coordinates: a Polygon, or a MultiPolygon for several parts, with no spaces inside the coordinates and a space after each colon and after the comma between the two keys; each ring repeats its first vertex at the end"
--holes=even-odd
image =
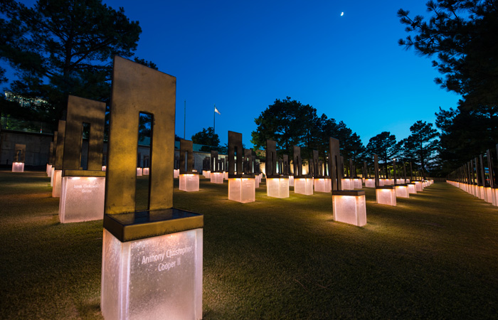
{"type": "Polygon", "coordinates": [[[359,227],[366,225],[365,191],[332,191],[334,220],[359,227]]]}

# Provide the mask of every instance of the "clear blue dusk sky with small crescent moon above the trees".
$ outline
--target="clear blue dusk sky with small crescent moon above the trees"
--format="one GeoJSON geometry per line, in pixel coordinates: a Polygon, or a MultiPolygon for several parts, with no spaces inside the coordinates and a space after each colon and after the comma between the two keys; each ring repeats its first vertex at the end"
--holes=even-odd
{"type": "Polygon", "coordinates": [[[136,55],[176,77],[176,134],[186,139],[213,126],[216,104],[221,144],[231,130],[250,147],[254,119],[289,96],[344,121],[366,145],[383,131],[406,138],[460,99],[433,82],[431,58],[398,46],[408,33],[396,12],[429,16],[426,1],[103,2],[139,21],[136,55]]]}

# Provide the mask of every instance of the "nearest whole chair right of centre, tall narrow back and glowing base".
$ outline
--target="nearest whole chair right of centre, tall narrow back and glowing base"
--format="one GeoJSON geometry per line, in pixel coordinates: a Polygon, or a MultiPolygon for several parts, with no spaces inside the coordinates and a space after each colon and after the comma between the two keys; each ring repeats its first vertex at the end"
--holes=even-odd
{"type": "Polygon", "coordinates": [[[362,227],[366,225],[365,191],[341,190],[339,140],[329,139],[329,174],[332,179],[332,212],[335,221],[362,227]]]}

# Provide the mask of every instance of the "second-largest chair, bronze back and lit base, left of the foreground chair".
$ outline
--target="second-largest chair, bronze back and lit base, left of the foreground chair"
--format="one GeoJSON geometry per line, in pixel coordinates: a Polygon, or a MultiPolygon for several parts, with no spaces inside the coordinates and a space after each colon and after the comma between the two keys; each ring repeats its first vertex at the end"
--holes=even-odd
{"type": "Polygon", "coordinates": [[[60,223],[104,217],[105,171],[102,171],[105,103],[70,95],[63,138],[60,223]],[[89,124],[88,170],[82,170],[83,124],[89,124]]]}

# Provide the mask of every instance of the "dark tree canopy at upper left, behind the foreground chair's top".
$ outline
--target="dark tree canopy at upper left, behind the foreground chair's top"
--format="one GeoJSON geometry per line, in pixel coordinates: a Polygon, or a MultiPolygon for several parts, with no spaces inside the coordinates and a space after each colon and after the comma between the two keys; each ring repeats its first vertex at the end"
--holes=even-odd
{"type": "MultiPolygon", "coordinates": [[[[68,95],[109,101],[112,57],[131,58],[142,29],[101,0],[2,1],[0,56],[16,70],[11,91],[48,102],[37,119],[56,124],[68,95]]],[[[135,58],[138,63],[154,64],[135,58]]]]}

